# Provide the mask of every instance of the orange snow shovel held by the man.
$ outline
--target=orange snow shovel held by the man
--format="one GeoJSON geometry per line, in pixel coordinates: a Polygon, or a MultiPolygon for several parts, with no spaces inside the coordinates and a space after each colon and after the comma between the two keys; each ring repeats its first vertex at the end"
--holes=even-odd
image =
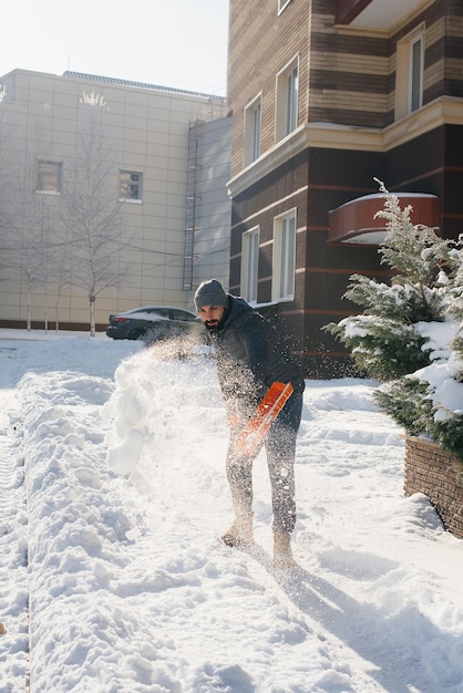
{"type": "Polygon", "coordinates": [[[291,383],[285,384],[277,381],[269,387],[255,415],[248,421],[236,439],[237,453],[250,457],[258,451],[265,434],[291,394],[291,383]]]}

